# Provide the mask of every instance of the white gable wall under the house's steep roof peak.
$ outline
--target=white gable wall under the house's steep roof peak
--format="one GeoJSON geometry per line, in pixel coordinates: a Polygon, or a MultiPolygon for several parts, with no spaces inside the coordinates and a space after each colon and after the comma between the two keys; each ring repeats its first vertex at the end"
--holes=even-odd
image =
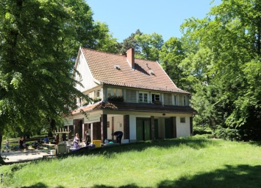
{"type": "MultiPolygon", "coordinates": [[[[81,84],[83,87],[81,87],[80,85],[77,84],[76,88],[78,90],[80,90],[81,92],[84,92],[86,90],[92,89],[96,86],[98,86],[97,83],[95,83],[95,79],[92,75],[92,72],[84,58],[84,55],[81,51],[81,49],[79,50],[79,55],[78,55],[78,59],[76,62],[76,70],[81,74],[81,84]]],[[[75,73],[75,78],[76,80],[78,80],[79,76],[75,73]]],[[[78,80],[79,81],[79,80],[78,80]]]]}

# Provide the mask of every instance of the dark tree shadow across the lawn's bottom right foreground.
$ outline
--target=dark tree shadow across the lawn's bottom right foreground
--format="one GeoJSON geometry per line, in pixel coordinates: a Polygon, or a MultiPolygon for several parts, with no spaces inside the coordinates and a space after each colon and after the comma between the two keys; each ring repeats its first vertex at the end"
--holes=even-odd
{"type": "MultiPolygon", "coordinates": [[[[259,188],[261,187],[261,166],[226,165],[224,169],[201,173],[194,176],[183,175],[178,180],[161,181],[157,188],[259,188]]],[[[135,184],[123,186],[94,185],[92,188],[141,188],[135,184]]],[[[83,188],[83,187],[82,187],[83,188]]]]}

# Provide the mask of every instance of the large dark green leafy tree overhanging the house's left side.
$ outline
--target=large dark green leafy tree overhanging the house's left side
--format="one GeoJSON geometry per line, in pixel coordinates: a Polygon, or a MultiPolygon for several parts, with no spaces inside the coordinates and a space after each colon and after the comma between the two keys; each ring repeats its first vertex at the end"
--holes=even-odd
{"type": "MultiPolygon", "coordinates": [[[[75,89],[72,60],[84,40],[81,32],[90,29],[94,35],[100,28],[88,17],[90,12],[82,11],[91,23],[77,29],[76,17],[81,15],[73,2],[83,1],[1,2],[0,143],[7,129],[34,130],[43,120],[57,121],[77,108],[77,97],[89,99],[75,89]]],[[[88,37],[94,46],[103,38],[88,37]]]]}

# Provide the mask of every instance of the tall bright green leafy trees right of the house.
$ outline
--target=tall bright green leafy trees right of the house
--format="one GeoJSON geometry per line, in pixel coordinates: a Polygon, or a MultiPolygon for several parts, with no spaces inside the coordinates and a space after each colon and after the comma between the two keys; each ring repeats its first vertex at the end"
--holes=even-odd
{"type": "Polygon", "coordinates": [[[254,81],[259,78],[254,69],[260,64],[260,10],[260,1],[224,0],[208,17],[182,25],[186,58],[181,68],[188,81],[193,78],[198,119],[210,120],[213,128],[236,129],[244,140],[261,133],[260,88],[254,81]]]}

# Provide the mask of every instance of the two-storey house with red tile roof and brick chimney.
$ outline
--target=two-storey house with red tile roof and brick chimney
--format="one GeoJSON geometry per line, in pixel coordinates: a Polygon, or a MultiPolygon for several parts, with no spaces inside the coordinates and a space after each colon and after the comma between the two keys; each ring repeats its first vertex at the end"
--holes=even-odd
{"type": "Polygon", "coordinates": [[[66,128],[92,140],[113,139],[123,131],[123,142],[187,137],[192,135],[195,110],[189,92],[172,82],[157,61],[134,58],[134,49],[117,55],[80,47],[75,79],[77,89],[94,99],[77,99],[79,108],[65,121],[66,128]],[[85,112],[87,117],[82,114],[85,112]]]}

